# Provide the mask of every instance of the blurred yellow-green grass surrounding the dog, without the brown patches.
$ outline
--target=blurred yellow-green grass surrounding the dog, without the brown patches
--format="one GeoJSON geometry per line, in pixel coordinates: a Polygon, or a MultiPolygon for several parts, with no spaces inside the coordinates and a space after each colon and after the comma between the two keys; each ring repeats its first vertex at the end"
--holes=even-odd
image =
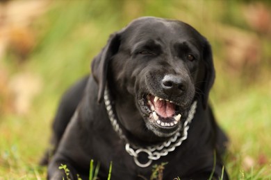
{"type": "MultiPolygon", "coordinates": [[[[231,179],[271,179],[270,39],[258,35],[263,55],[256,71],[236,72],[227,66],[225,44],[220,37],[220,25],[254,33],[240,17],[244,6],[243,1],[226,5],[224,1],[203,0],[51,3],[49,10],[31,25],[36,46],[28,58],[19,63],[10,50],[0,60],[0,71],[5,69],[8,74],[7,82],[18,73],[31,73],[42,84],[26,114],[0,109],[0,179],[46,178],[46,168],[39,167],[38,161],[49,146],[51,121],[61,94],[90,72],[90,61],[110,33],[143,15],[181,19],[209,39],[217,69],[211,103],[230,138],[225,169],[231,179]],[[233,18],[236,15],[238,19],[233,18]]],[[[14,97],[9,98],[12,101],[14,97]]],[[[1,91],[0,100],[0,107],[13,109],[1,91]]]]}

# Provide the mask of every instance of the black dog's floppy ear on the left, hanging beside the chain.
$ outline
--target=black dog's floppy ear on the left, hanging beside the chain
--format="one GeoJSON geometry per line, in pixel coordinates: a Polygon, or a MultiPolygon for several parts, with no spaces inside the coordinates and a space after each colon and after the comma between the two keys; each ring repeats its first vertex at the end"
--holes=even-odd
{"type": "Polygon", "coordinates": [[[104,97],[104,89],[106,87],[106,77],[108,72],[108,63],[113,55],[117,53],[120,47],[120,34],[110,35],[106,46],[101,50],[94,60],[92,60],[91,71],[95,81],[98,84],[98,102],[100,103],[104,97]]]}

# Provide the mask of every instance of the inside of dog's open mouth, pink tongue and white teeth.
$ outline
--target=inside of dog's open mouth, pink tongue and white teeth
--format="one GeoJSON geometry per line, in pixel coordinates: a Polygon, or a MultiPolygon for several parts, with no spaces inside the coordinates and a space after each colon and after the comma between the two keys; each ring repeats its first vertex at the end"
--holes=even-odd
{"type": "Polygon", "coordinates": [[[170,100],[159,98],[151,94],[147,95],[147,107],[151,109],[149,118],[155,120],[161,127],[174,127],[180,119],[179,106],[170,100]]]}

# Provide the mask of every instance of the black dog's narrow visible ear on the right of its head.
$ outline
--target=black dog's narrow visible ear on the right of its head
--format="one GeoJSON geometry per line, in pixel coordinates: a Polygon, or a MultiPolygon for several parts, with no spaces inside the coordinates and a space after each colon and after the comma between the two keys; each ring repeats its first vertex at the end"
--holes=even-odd
{"type": "Polygon", "coordinates": [[[215,81],[215,67],[213,65],[213,53],[211,45],[206,39],[204,39],[204,48],[203,48],[203,61],[205,66],[204,73],[204,83],[202,86],[202,105],[206,109],[208,104],[208,96],[215,81]]]}

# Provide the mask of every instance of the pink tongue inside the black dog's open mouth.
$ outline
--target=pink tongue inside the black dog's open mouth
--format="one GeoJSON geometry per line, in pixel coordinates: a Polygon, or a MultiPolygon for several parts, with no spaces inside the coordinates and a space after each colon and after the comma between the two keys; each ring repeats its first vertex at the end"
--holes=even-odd
{"type": "Polygon", "coordinates": [[[152,104],[154,105],[154,111],[158,113],[163,118],[172,117],[175,114],[175,105],[171,102],[165,100],[151,100],[152,104]]]}

